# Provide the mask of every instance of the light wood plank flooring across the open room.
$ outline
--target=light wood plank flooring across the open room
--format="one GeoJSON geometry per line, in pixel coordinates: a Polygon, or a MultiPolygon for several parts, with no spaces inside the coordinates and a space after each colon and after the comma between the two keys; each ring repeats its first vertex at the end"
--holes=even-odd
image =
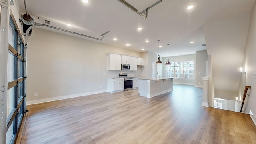
{"type": "Polygon", "coordinates": [[[248,114],[202,107],[202,88],[138,89],[28,106],[21,144],[256,144],[248,114]]]}

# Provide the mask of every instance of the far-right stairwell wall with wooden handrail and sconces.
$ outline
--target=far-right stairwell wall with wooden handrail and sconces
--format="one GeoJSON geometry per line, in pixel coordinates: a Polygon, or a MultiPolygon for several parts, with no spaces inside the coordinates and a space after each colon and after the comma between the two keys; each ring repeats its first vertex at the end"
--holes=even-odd
{"type": "MultiPolygon", "coordinates": [[[[242,98],[245,86],[251,86],[250,96],[248,96],[248,103],[245,108],[245,113],[250,110],[254,114],[254,121],[256,121],[256,79],[253,77],[256,73],[256,4],[254,4],[251,13],[250,26],[248,30],[246,49],[244,54],[243,69],[246,70],[246,75],[240,77],[239,97],[242,98]]],[[[239,72],[239,68],[237,68],[239,72]]],[[[246,96],[247,97],[247,96],[246,96]]]]}

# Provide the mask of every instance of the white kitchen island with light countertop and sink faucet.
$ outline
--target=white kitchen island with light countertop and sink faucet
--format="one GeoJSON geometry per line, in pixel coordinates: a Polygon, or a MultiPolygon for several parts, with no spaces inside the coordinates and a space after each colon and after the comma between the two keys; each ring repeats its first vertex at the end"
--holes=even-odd
{"type": "Polygon", "coordinates": [[[174,78],[139,78],[139,94],[152,98],[173,90],[174,78]]]}

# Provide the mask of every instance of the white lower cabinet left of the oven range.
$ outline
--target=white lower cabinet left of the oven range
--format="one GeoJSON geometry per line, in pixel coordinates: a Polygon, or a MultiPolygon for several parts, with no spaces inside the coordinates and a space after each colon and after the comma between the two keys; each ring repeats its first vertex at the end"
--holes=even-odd
{"type": "Polygon", "coordinates": [[[108,78],[108,92],[120,92],[124,90],[124,78],[108,78]]]}

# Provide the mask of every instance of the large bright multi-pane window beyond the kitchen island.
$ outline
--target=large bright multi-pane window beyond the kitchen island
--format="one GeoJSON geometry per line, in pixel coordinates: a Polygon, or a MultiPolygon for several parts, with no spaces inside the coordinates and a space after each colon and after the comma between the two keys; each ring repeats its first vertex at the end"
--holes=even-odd
{"type": "Polygon", "coordinates": [[[171,65],[166,65],[166,74],[168,78],[177,77],[184,79],[194,78],[194,61],[172,62],[171,65]]]}

